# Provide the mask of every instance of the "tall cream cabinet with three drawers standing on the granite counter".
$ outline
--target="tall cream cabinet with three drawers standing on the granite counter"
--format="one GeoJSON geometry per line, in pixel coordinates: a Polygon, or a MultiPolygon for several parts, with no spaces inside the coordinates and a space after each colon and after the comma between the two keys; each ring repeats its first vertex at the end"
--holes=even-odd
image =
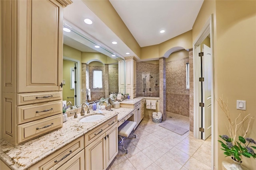
{"type": "Polygon", "coordinates": [[[2,137],[19,145],[62,127],[63,8],[72,1],[1,3],[2,137]]]}

